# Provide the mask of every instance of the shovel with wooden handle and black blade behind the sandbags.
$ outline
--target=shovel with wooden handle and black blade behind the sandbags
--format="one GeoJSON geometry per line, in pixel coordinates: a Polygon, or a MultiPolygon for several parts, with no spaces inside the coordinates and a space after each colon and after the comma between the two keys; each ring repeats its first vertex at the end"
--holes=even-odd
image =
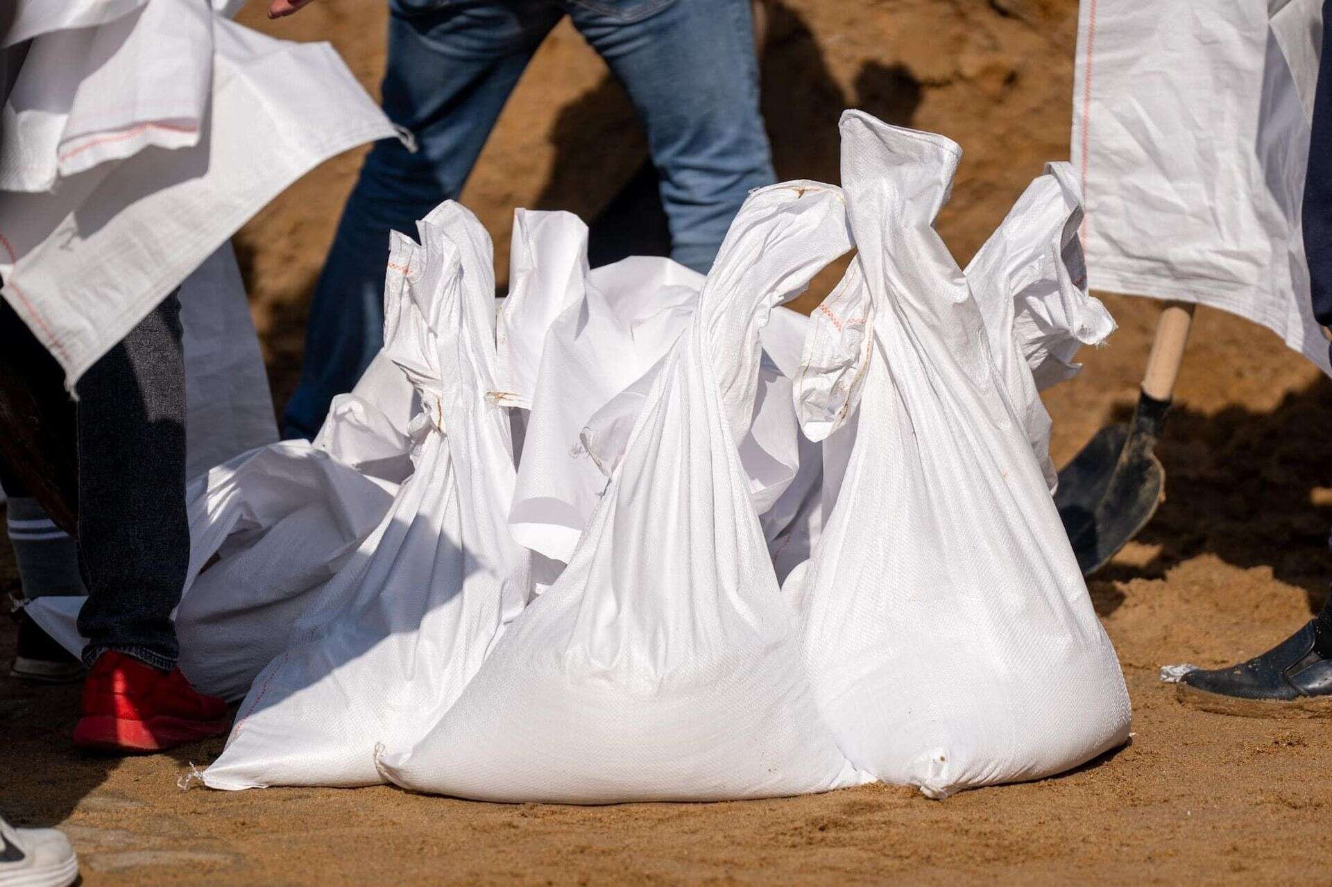
{"type": "Polygon", "coordinates": [[[1166,469],[1154,450],[1192,321],[1191,302],[1166,305],[1132,421],[1100,429],[1059,473],[1055,506],[1083,575],[1115,557],[1166,498],[1166,469]]]}

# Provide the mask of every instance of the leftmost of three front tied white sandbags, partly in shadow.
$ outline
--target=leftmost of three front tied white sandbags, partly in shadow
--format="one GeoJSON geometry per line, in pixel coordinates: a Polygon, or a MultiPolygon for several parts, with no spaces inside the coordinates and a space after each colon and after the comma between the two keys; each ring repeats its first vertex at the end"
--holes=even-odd
{"type": "Polygon", "coordinates": [[[496,390],[490,241],[446,202],[394,234],[385,354],[410,378],[413,474],[254,681],[214,788],[380,782],[377,743],[410,743],[438,721],[530,594],[529,557],[509,535],[514,463],[496,390]],[[405,269],[405,270],[396,270],[405,269]]]}

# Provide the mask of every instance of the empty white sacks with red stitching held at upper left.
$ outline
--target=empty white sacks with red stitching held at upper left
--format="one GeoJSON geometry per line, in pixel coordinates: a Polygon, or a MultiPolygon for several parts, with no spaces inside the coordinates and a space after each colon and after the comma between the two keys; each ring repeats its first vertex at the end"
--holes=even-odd
{"type": "MultiPolygon", "coordinates": [[[[338,152],[394,135],[328,44],[273,40],[194,0],[148,0],[84,31],[96,32],[97,43],[131,24],[124,36],[133,36],[136,51],[108,45],[107,67],[84,72],[105,88],[68,83],[83,68],[44,45],[59,48],[76,32],[51,31],[28,45],[11,96],[27,96],[37,117],[44,101],[55,103],[47,121],[60,119],[49,127],[60,132],[55,145],[33,136],[4,148],[7,161],[45,169],[41,182],[67,128],[71,139],[87,140],[68,145],[77,154],[55,154],[59,188],[0,190],[0,293],[64,368],[69,386],[286,185],[338,152]],[[174,83],[163,83],[176,77],[190,88],[177,95],[174,83]],[[202,112],[200,81],[208,85],[202,112]],[[148,111],[152,103],[136,104],[159,93],[180,99],[161,119],[148,111]],[[131,111],[120,113],[123,107],[131,111]],[[131,120],[140,112],[152,120],[131,120]],[[174,115],[188,119],[177,125],[174,115]],[[115,139],[97,141],[109,131],[115,139]],[[40,157],[24,153],[29,145],[41,148],[40,157]],[[127,147],[133,153],[124,156],[127,147]],[[85,166],[93,157],[100,162],[85,166]]],[[[19,113],[12,103],[5,108],[7,120],[19,113]]]]}

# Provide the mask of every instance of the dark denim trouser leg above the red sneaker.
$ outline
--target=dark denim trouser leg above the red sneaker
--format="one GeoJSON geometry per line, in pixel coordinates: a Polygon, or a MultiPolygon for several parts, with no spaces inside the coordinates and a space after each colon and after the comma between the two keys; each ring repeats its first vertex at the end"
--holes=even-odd
{"type": "Polygon", "coordinates": [[[120,650],[170,669],[180,653],[170,614],[189,570],[176,294],[93,364],[76,390],[84,661],[120,650]]]}

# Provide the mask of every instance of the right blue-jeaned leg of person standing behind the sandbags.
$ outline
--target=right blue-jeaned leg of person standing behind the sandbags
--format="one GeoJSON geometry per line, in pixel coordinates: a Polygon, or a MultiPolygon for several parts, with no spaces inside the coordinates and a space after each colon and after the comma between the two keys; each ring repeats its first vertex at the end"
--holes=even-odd
{"type": "Polygon", "coordinates": [[[775,181],[750,0],[562,0],[647,131],[671,258],[706,272],[754,188],[775,181]]]}

